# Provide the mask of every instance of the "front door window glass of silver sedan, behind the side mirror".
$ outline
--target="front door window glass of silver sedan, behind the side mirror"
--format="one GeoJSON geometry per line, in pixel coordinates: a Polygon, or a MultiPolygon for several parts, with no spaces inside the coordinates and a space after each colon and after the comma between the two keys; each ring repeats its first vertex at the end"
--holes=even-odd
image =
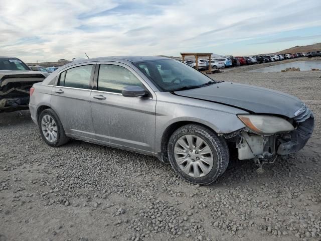
{"type": "Polygon", "coordinates": [[[140,80],[125,67],[112,64],[101,64],[99,66],[98,90],[121,93],[125,86],[144,88],[140,80]]]}

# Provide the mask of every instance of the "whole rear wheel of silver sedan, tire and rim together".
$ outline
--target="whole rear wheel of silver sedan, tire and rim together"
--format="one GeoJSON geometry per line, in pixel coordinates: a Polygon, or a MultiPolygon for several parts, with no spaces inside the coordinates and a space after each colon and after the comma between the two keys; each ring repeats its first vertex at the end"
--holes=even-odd
{"type": "Polygon", "coordinates": [[[57,114],[52,109],[45,109],[40,113],[38,126],[42,139],[51,147],[59,147],[69,140],[57,114]]]}

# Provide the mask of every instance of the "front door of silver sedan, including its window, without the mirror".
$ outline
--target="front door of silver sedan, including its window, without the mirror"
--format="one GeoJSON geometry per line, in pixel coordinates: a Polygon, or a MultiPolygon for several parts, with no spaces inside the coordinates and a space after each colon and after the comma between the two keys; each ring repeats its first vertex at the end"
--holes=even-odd
{"type": "Polygon", "coordinates": [[[152,152],[155,136],[156,99],[124,97],[121,89],[129,85],[145,87],[143,79],[121,63],[100,63],[97,89],[90,101],[96,139],[115,147],[152,152]]]}

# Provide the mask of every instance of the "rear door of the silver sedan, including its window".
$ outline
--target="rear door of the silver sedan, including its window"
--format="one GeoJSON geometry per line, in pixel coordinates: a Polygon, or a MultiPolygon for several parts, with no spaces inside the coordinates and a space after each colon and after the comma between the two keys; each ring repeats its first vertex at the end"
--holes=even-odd
{"type": "Polygon", "coordinates": [[[51,107],[58,114],[66,134],[77,137],[94,137],[91,116],[94,63],[72,66],[58,75],[52,88],[51,107]]]}

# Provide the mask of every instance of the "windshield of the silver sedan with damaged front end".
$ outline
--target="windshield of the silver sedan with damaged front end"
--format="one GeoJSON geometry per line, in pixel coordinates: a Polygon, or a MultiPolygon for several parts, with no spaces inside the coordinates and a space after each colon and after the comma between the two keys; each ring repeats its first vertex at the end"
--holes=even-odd
{"type": "Polygon", "coordinates": [[[170,59],[136,62],[135,65],[165,92],[189,86],[201,87],[212,80],[192,67],[170,59]]]}

